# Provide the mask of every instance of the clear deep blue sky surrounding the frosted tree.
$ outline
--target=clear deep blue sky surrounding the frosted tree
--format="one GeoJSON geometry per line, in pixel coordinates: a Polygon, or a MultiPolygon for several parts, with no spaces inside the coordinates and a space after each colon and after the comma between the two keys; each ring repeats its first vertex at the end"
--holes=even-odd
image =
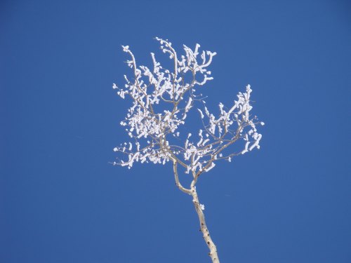
{"type": "MultiPolygon", "coordinates": [[[[250,83],[261,149],[198,184],[221,262],[351,262],[348,1],[1,1],[0,262],[210,262],[171,166],[113,167],[121,44],[218,55],[208,103],[250,83]]],[[[160,54],[158,54],[160,55],[160,54]]]]}

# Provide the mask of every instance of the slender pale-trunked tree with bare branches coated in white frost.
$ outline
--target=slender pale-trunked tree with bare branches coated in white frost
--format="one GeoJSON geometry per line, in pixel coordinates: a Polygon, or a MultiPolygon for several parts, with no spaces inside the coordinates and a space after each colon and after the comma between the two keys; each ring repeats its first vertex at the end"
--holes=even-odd
{"type": "Polygon", "coordinates": [[[155,59],[154,53],[151,53],[152,70],[145,66],[137,67],[129,47],[122,46],[131,57],[126,63],[133,69],[133,79],[124,75],[124,88],[116,84],[113,88],[121,98],[128,96],[132,99],[132,106],[124,121],[121,121],[131,142],[124,142],[114,148],[114,151],[126,155],[127,159],[119,159],[113,164],[132,168],[134,162],[165,164],[171,161],[176,186],[192,196],[200,229],[210,250],[208,254],[212,262],[219,262],[216,245],[206,227],[204,205],[199,202],[196,184],[200,175],[215,167],[218,161],[231,161],[239,154],[260,149],[262,135],[257,132],[256,126],[264,123],[250,114],[250,85],[246,86],[245,93],[237,95],[237,100],[229,109],[220,103],[218,116],[208,111],[205,97],[197,94],[195,88],[213,79],[207,68],[216,52],[202,51],[199,59],[199,44],[194,50],[184,45],[185,55],[178,57],[171,42],[156,39],[163,53],[172,60],[172,70],[164,69],[155,59]],[[197,111],[202,122],[196,141],[191,139],[191,133],[183,136],[181,129],[195,104],[201,107],[197,111]],[[241,140],[244,141],[244,149],[230,151],[234,143],[241,140]],[[192,175],[189,187],[183,187],[180,183],[178,167],[192,175]]]}

